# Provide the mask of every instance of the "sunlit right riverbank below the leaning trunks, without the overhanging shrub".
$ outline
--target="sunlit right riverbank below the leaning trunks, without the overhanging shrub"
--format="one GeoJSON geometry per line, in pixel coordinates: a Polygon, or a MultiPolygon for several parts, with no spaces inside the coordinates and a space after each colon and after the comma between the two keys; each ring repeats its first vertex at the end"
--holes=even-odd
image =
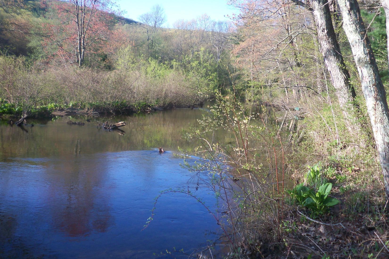
{"type": "MultiPolygon", "coordinates": [[[[389,204],[366,104],[358,99],[357,123],[364,125],[363,130],[350,132],[351,125],[345,122],[339,104],[330,101],[332,96],[328,92],[316,95],[317,99],[298,101],[273,95],[262,101],[284,113],[277,118],[276,130],[270,132],[275,141],[282,142],[283,150],[277,153],[278,161],[277,156],[269,158],[278,162],[282,180],[273,171],[269,174],[277,177],[270,183],[283,184],[285,174],[293,187],[277,186],[278,194],[266,194],[279,201],[275,207],[264,213],[259,206],[260,213],[256,210],[248,217],[271,227],[257,228],[250,242],[238,245],[234,251],[240,258],[389,257],[389,204]],[[317,170],[312,172],[312,167],[317,170]],[[326,197],[336,198],[337,204],[324,202],[323,184],[331,185],[326,197]],[[247,252],[255,255],[247,256],[247,252]]],[[[274,143],[269,146],[270,151],[281,148],[274,143]]]]}

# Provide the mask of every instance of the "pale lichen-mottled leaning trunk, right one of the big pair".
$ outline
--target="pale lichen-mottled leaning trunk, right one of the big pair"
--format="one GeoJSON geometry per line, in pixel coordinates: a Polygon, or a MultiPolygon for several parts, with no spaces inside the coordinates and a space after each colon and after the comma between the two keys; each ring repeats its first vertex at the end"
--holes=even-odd
{"type": "Polygon", "coordinates": [[[375,144],[384,175],[385,193],[389,198],[389,110],[384,85],[378,73],[377,63],[361,12],[356,0],[338,0],[343,16],[343,29],[349,39],[354,61],[361,79],[375,144]]]}

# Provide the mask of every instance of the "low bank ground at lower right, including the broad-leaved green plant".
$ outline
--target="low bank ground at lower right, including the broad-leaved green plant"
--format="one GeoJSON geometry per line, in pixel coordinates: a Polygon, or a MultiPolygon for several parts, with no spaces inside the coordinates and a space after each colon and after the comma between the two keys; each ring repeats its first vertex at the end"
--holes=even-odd
{"type": "Polygon", "coordinates": [[[293,177],[294,189],[306,186],[304,191],[266,194],[278,199],[275,204],[280,207],[262,211],[257,207],[245,219],[255,222],[255,234],[235,247],[228,258],[388,258],[389,214],[380,175],[336,163],[317,169],[315,182],[310,182],[309,169],[301,169],[300,177],[293,177]],[[312,207],[299,202],[310,192],[319,199],[322,183],[332,187],[328,197],[339,200],[336,205],[326,207],[323,201],[314,200],[312,207]]]}

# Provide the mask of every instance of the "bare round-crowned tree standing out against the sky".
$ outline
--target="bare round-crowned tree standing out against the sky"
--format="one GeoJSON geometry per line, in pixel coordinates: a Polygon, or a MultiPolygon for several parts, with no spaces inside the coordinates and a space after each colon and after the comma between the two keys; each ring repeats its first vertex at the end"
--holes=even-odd
{"type": "Polygon", "coordinates": [[[139,20],[142,23],[141,26],[146,30],[147,34],[147,48],[154,48],[154,36],[161,28],[162,24],[166,21],[165,12],[159,5],[151,7],[150,12],[139,16],[139,20]]]}

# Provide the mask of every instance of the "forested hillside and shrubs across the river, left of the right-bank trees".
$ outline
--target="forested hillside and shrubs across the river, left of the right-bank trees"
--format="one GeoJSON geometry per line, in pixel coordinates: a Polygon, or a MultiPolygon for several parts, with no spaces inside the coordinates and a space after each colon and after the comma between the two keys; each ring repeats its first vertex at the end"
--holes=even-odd
{"type": "Polygon", "coordinates": [[[159,6],[134,22],[109,1],[87,4],[79,13],[72,1],[4,4],[2,97],[16,110],[71,103],[103,110],[189,107],[206,98],[201,88],[230,87],[231,23],[204,14],[161,28],[159,6]]]}

